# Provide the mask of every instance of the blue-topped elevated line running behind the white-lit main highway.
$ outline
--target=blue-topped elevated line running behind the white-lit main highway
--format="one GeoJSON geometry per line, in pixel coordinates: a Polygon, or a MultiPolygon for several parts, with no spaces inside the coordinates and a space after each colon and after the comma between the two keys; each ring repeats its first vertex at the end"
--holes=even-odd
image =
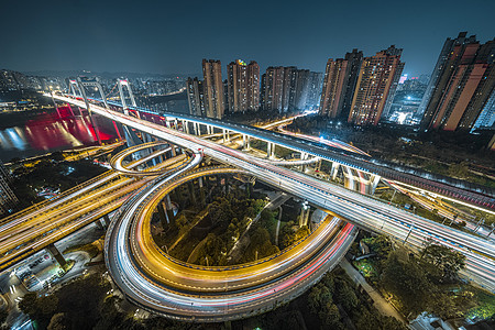
{"type": "MultiPolygon", "coordinates": [[[[55,98],[67,101],[72,98],[55,96],[55,98]]],[[[95,100],[98,102],[99,100],[95,100]]],[[[109,105],[120,108],[116,102],[109,105]]],[[[210,128],[231,131],[238,134],[253,136],[255,139],[280,145],[289,150],[318,156],[328,162],[336,162],[358,170],[378,175],[387,180],[394,180],[404,185],[410,185],[442,196],[460,204],[466,204],[471,207],[479,208],[484,211],[495,212],[495,191],[493,188],[481,186],[454,178],[435,175],[421,169],[410,168],[400,165],[383,164],[378,160],[372,160],[362,151],[353,147],[342,147],[341,143],[330,143],[331,141],[316,141],[312,136],[297,136],[297,134],[283,134],[267,131],[262,128],[254,128],[228,121],[220,121],[211,118],[196,117],[191,114],[165,112],[158,114],[148,109],[140,107],[129,107],[145,119],[153,121],[177,120],[187,124],[197,123],[210,128]],[[300,139],[302,138],[302,139],[300,139]]]]}

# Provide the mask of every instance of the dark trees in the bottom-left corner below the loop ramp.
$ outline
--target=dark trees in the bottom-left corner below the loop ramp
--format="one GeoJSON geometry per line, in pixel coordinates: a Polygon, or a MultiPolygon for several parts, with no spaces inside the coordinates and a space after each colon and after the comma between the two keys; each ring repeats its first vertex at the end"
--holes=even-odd
{"type": "Polygon", "coordinates": [[[19,308],[35,321],[36,329],[206,329],[158,317],[136,320],[135,307],[108,295],[110,288],[100,274],[91,274],[48,296],[28,293],[19,308]]]}

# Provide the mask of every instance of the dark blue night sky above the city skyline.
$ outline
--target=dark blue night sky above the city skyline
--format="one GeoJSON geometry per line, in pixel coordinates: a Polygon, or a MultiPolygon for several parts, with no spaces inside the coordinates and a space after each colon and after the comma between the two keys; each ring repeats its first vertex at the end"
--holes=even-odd
{"type": "Polygon", "coordinates": [[[352,48],[404,48],[404,73],[430,74],[448,36],[495,36],[494,0],[1,0],[0,68],[195,74],[201,59],[323,72],[352,48]]]}

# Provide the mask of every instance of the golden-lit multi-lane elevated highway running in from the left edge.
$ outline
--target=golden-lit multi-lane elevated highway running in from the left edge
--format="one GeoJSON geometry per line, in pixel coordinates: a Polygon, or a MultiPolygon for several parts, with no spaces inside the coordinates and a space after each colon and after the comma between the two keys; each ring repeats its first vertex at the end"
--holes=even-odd
{"type": "MultiPolygon", "coordinates": [[[[134,161],[128,165],[135,168],[150,158],[134,161]]],[[[178,155],[160,163],[151,172],[154,176],[183,168],[191,162],[187,155],[178,155]]],[[[144,172],[146,173],[146,170],[144,172]]],[[[58,196],[55,200],[41,202],[0,222],[0,272],[78,229],[113,212],[122,202],[153,179],[124,177],[111,170],[58,196]]]]}

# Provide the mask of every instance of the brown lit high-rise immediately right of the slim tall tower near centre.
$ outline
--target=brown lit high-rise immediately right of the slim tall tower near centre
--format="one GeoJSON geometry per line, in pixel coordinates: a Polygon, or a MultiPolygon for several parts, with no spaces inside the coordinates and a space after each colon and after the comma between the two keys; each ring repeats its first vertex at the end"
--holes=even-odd
{"type": "Polygon", "coordinates": [[[260,103],[260,66],[238,59],[227,66],[230,112],[257,110],[260,103]]]}

